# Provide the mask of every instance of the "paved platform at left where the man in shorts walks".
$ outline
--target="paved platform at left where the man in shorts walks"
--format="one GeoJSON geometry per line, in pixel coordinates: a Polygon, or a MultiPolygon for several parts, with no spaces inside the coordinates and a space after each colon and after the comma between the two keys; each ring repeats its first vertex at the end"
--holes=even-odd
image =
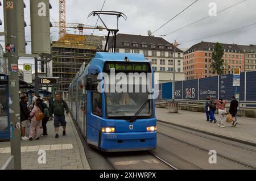
{"type": "MultiPolygon", "coordinates": [[[[89,164],[79,134],[71,116],[66,116],[66,136],[59,128],[59,138],[55,138],[53,121],[48,121],[48,136],[40,140],[20,140],[23,170],[89,170],[89,164]],[[46,151],[46,163],[38,163],[39,150],[46,151]]],[[[26,128],[28,136],[29,128],[26,128]]],[[[43,129],[42,129],[43,133],[43,129]]],[[[0,168],[10,156],[10,142],[0,142],[0,168]]]]}

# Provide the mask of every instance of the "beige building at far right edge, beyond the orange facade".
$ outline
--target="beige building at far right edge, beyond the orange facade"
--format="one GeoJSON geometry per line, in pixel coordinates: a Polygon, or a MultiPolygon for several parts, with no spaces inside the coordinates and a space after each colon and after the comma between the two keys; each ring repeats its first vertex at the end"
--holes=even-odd
{"type": "Polygon", "coordinates": [[[245,54],[245,71],[256,71],[256,45],[238,45],[245,54]]]}

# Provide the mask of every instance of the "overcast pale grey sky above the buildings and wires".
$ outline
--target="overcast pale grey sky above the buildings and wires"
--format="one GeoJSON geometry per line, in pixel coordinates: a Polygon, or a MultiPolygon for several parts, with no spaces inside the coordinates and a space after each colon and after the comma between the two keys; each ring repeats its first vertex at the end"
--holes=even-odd
{"type": "MultiPolygon", "coordinates": [[[[121,11],[127,16],[127,20],[119,19],[119,33],[130,33],[135,35],[147,35],[147,31],[154,32],[162,24],[166,23],[181,10],[185,9],[195,0],[106,0],[103,10],[121,11]]],[[[225,9],[243,0],[199,0],[182,14],[177,16],[170,23],[166,24],[159,31],[154,33],[155,36],[165,35],[176,29],[183,27],[189,23],[208,16],[210,9],[209,3],[215,2],[217,11],[225,9]]],[[[24,12],[24,17],[27,24],[30,24],[30,8],[29,0],[24,1],[27,8],[24,12]]],[[[68,23],[83,23],[94,26],[97,17],[91,16],[87,18],[92,11],[100,10],[104,0],[66,0],[66,22],[68,23]]],[[[59,22],[59,1],[50,0],[52,9],[50,10],[51,22],[59,22]]],[[[189,48],[193,44],[200,41],[219,41],[221,43],[236,43],[236,44],[256,44],[256,24],[247,28],[242,28],[237,31],[224,33],[222,35],[208,37],[222,32],[227,32],[237,28],[245,27],[249,24],[256,23],[256,1],[246,0],[237,6],[220,12],[217,16],[211,16],[182,30],[171,33],[163,38],[171,43],[176,39],[181,42],[179,48],[189,48]],[[207,37],[207,38],[204,38],[207,37]],[[198,39],[198,40],[194,40],[198,39]],[[194,40],[194,41],[189,41],[194,40]]],[[[3,21],[3,13],[1,7],[0,19],[3,21]]],[[[116,26],[116,18],[112,16],[102,16],[109,28],[116,26]]],[[[98,25],[102,25],[99,21],[98,25]]],[[[0,27],[3,31],[3,26],[0,27]]],[[[52,39],[57,40],[59,36],[59,28],[51,28],[52,39]]],[[[68,29],[68,33],[75,33],[74,30],[68,29]]],[[[78,31],[76,31],[78,34],[78,31]]],[[[86,30],[84,33],[92,33],[92,30],[86,30]]],[[[94,35],[106,35],[106,31],[94,31],[94,35]]],[[[30,41],[30,27],[26,27],[26,40],[30,41]]],[[[3,40],[3,36],[0,37],[3,40]]],[[[1,42],[3,45],[3,42],[1,42]]],[[[26,47],[27,53],[31,53],[31,44],[26,47]]],[[[33,63],[32,60],[20,60],[19,64],[33,63]]],[[[22,68],[22,66],[20,66],[22,68]]]]}

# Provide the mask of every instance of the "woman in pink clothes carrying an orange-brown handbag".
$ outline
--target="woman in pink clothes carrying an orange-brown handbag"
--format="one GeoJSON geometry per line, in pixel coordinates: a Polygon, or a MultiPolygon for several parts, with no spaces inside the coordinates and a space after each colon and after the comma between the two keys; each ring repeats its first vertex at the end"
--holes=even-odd
{"type": "Polygon", "coordinates": [[[30,116],[32,118],[30,123],[30,136],[28,136],[28,140],[32,141],[35,134],[36,140],[39,140],[41,120],[44,117],[42,102],[40,99],[36,99],[35,106],[31,111],[30,116]]]}

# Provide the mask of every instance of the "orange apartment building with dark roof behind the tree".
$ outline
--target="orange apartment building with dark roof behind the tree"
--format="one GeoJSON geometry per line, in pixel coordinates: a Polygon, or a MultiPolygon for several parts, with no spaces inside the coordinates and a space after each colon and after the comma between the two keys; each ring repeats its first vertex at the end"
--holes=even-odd
{"type": "MultiPolygon", "coordinates": [[[[241,68],[245,71],[245,54],[236,44],[222,44],[224,49],[224,74],[233,73],[233,68],[241,68]]],[[[212,52],[214,51],[215,43],[201,41],[186,50],[183,55],[183,71],[185,79],[197,79],[204,77],[212,77],[212,52]]]]}

